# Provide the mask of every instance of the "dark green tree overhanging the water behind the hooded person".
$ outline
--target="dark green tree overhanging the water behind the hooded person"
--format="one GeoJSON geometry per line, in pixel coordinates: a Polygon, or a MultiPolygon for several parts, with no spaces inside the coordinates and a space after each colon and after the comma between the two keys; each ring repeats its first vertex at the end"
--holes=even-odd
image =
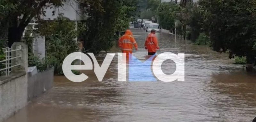
{"type": "MultiPolygon", "coordinates": [[[[86,9],[88,19],[84,22],[86,29],[82,35],[84,52],[99,53],[109,50],[116,41],[116,31],[123,31],[129,27],[131,12],[135,0],[101,0],[90,4],[86,9]],[[95,4],[97,3],[97,4],[95,4]]],[[[88,3],[80,4],[87,7],[88,3]]]]}

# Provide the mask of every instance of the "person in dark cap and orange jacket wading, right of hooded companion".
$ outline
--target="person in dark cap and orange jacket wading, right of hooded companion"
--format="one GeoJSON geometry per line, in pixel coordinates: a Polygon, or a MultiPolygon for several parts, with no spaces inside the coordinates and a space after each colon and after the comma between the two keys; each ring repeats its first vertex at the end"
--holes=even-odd
{"type": "Polygon", "coordinates": [[[148,35],[145,41],[145,49],[148,50],[148,55],[156,54],[156,50],[160,49],[158,46],[158,41],[156,37],[156,30],[151,30],[151,33],[148,35]]]}

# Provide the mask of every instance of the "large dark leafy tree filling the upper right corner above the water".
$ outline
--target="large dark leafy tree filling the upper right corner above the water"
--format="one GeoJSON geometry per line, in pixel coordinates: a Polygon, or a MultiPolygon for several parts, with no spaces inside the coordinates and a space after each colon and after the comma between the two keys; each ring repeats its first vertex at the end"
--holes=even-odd
{"type": "Polygon", "coordinates": [[[255,64],[256,3],[253,0],[201,0],[202,27],[217,52],[247,56],[255,64]]]}

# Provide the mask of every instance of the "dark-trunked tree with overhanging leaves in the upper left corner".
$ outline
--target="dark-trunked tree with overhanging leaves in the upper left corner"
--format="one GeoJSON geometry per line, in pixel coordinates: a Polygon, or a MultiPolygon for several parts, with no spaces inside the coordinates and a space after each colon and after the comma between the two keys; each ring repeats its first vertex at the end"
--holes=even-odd
{"type": "Polygon", "coordinates": [[[40,19],[45,7],[61,6],[64,0],[1,0],[1,25],[8,25],[8,45],[21,41],[22,33],[32,18],[40,19]],[[7,5],[7,7],[6,7],[7,5]],[[4,7],[3,7],[4,6],[4,7]]]}

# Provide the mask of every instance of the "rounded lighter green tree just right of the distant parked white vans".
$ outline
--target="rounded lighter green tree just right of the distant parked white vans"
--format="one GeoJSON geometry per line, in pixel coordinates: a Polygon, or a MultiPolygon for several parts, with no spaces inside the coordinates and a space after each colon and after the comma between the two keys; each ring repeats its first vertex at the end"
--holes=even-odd
{"type": "Polygon", "coordinates": [[[180,11],[180,5],[173,2],[164,2],[157,8],[159,24],[166,30],[174,29],[176,13],[180,11]]]}

